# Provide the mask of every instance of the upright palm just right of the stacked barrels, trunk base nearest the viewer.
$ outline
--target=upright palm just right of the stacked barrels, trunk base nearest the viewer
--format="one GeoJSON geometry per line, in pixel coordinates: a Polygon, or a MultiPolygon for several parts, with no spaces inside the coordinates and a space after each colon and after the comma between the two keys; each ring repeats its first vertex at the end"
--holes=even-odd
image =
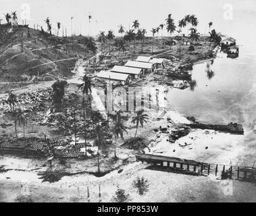
{"type": "Polygon", "coordinates": [[[98,146],[98,152],[97,152],[97,155],[98,155],[98,173],[100,173],[100,169],[99,169],[99,148],[105,146],[107,141],[105,140],[105,132],[102,129],[102,127],[99,126],[99,124],[96,126],[95,131],[91,135],[91,138],[93,139],[94,146],[98,146]]]}

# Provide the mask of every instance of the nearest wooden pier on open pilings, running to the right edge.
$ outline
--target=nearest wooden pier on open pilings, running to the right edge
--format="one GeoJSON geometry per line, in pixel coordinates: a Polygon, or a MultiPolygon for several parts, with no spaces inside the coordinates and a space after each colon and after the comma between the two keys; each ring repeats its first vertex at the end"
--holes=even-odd
{"type": "Polygon", "coordinates": [[[178,171],[184,174],[210,175],[220,177],[221,180],[242,180],[256,184],[256,167],[238,167],[233,165],[221,165],[202,163],[176,157],[161,155],[136,155],[138,161],[151,163],[154,167],[161,167],[169,171],[178,171]]]}

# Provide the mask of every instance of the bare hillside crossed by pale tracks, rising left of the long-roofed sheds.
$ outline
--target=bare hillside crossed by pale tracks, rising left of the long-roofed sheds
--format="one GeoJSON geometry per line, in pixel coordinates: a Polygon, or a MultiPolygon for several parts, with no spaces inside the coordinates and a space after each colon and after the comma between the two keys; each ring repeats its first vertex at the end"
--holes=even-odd
{"type": "Polygon", "coordinates": [[[1,25],[0,81],[68,77],[78,57],[93,55],[80,41],[26,26],[1,25]]]}

